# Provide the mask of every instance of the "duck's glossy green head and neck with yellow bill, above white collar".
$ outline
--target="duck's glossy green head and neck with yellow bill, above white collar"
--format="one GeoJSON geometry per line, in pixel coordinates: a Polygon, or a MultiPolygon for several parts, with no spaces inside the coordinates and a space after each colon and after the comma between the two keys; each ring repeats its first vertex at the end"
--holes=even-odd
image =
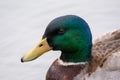
{"type": "Polygon", "coordinates": [[[86,62],[90,59],[91,47],[92,35],[88,24],[78,16],[66,15],[48,24],[42,41],[21,61],[34,60],[49,50],[60,50],[60,59],[64,62],[86,62]]]}

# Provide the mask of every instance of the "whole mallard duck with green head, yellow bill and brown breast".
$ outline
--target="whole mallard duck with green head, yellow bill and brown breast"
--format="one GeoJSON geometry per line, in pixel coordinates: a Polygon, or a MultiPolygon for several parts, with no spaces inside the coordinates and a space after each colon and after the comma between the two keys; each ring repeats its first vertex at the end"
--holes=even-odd
{"type": "Polygon", "coordinates": [[[21,61],[32,61],[47,51],[61,51],[46,80],[120,80],[120,29],[97,39],[86,21],[66,15],[51,21],[42,40],[21,61]]]}

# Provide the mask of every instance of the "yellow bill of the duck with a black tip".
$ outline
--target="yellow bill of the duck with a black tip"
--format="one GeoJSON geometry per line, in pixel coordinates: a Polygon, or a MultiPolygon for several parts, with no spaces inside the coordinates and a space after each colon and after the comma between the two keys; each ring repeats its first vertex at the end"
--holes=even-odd
{"type": "Polygon", "coordinates": [[[28,62],[28,61],[32,61],[36,58],[38,58],[39,56],[41,56],[43,53],[47,52],[51,50],[51,47],[49,46],[49,44],[47,43],[46,38],[44,38],[43,40],[41,40],[39,42],[39,44],[37,46],[35,46],[32,50],[30,50],[29,52],[27,52],[21,59],[21,62],[28,62]]]}

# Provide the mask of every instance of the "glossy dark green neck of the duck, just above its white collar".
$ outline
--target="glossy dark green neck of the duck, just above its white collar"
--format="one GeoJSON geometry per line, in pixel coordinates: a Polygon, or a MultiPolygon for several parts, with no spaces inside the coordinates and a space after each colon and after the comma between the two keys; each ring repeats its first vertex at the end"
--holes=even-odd
{"type": "Polygon", "coordinates": [[[73,63],[79,63],[79,62],[88,62],[91,55],[91,49],[84,49],[79,50],[77,52],[73,53],[65,53],[62,52],[60,59],[63,62],[73,62],[73,63]]]}

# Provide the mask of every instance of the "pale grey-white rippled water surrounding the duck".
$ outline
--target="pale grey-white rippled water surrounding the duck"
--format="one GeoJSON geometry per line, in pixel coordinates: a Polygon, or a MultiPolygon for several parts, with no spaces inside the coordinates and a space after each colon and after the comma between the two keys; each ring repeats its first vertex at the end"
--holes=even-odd
{"type": "Polygon", "coordinates": [[[45,80],[60,52],[27,63],[20,59],[51,20],[69,14],[88,22],[93,39],[120,28],[119,0],[0,0],[0,80],[45,80]]]}

